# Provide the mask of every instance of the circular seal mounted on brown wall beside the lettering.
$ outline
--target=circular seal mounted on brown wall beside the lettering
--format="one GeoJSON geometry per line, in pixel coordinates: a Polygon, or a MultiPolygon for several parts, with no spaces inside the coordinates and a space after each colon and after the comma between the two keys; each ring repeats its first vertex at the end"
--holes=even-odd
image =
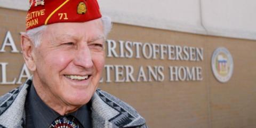
{"type": "Polygon", "coordinates": [[[228,82],[233,74],[233,58],[225,47],[218,47],[212,54],[212,72],[219,82],[228,82]]]}

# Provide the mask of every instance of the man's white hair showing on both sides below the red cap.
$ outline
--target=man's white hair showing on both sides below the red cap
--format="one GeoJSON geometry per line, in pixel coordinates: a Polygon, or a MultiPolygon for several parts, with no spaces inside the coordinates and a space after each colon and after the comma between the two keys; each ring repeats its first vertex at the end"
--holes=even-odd
{"type": "MultiPolygon", "coordinates": [[[[103,34],[105,35],[105,38],[106,38],[112,28],[111,19],[107,16],[102,16],[101,21],[103,24],[103,34]]],[[[27,36],[34,43],[35,47],[38,47],[40,45],[43,32],[46,29],[46,27],[47,27],[46,25],[43,25],[37,28],[30,29],[26,32],[27,36]]]]}

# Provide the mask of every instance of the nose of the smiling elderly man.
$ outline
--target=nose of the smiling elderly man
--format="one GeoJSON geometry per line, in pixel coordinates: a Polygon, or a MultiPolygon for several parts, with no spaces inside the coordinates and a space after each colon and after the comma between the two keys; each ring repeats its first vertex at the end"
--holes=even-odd
{"type": "Polygon", "coordinates": [[[74,64],[83,68],[93,67],[91,51],[87,45],[81,46],[77,49],[74,64]]]}

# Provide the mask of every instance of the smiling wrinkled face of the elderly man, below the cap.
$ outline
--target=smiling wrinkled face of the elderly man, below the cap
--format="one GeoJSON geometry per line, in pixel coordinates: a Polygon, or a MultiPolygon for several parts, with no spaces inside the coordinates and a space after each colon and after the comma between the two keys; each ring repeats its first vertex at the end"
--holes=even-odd
{"type": "MultiPolygon", "coordinates": [[[[68,105],[84,105],[97,88],[105,64],[100,19],[83,23],[54,23],[33,51],[34,84],[68,105]]],[[[47,96],[44,96],[47,97],[47,96]]]]}

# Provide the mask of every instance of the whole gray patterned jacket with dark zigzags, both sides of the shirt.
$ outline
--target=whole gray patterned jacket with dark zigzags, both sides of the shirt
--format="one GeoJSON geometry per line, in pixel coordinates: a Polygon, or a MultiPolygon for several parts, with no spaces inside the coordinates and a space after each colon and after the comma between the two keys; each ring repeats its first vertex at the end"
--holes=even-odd
{"type": "MultiPolygon", "coordinates": [[[[31,78],[17,89],[0,97],[0,127],[25,127],[25,100],[31,78]]],[[[93,128],[147,128],[145,119],[125,102],[97,90],[92,97],[93,128]]]]}

